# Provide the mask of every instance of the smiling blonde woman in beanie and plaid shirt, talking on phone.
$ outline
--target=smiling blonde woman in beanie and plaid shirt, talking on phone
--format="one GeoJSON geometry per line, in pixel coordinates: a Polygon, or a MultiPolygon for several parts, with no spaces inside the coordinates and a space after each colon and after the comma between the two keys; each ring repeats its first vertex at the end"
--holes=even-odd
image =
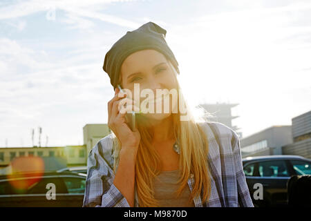
{"type": "Polygon", "coordinates": [[[164,99],[150,99],[157,90],[180,92],[178,62],[165,35],[156,23],[145,23],[106,53],[103,68],[115,88],[108,103],[113,133],[88,155],[83,206],[253,206],[236,133],[196,122],[181,93],[177,102],[176,93],[169,94],[167,111],[164,99]],[[134,99],[135,85],[149,95],[134,99]],[[137,108],[132,131],[125,116],[137,108]]]}

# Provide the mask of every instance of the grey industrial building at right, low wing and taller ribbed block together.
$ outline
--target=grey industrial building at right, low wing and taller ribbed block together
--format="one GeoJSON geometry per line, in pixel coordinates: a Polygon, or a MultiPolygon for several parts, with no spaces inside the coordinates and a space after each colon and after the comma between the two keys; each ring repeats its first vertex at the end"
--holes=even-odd
{"type": "Polygon", "coordinates": [[[311,111],[292,118],[291,126],[272,126],[240,140],[243,157],[300,155],[311,159],[311,111]]]}

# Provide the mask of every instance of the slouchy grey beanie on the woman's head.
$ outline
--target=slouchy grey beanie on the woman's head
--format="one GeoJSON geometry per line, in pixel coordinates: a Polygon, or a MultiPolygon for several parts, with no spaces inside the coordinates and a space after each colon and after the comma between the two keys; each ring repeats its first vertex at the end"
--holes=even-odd
{"type": "Polygon", "coordinates": [[[113,89],[117,87],[124,59],[138,50],[158,50],[171,61],[179,74],[178,62],[165,41],[166,34],[165,29],[149,21],[136,30],[126,32],[126,35],[113,44],[105,55],[103,66],[104,71],[110,77],[113,89]]]}

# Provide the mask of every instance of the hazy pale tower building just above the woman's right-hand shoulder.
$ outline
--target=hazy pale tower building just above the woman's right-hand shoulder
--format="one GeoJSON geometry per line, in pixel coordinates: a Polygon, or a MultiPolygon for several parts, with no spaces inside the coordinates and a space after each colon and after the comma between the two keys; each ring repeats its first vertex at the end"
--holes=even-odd
{"type": "Polygon", "coordinates": [[[232,128],[238,136],[242,137],[242,132],[237,126],[232,126],[232,119],[235,119],[238,116],[232,116],[231,108],[238,106],[238,104],[228,104],[228,103],[216,103],[216,104],[200,104],[207,113],[209,117],[207,119],[211,122],[220,122],[225,124],[229,128],[232,128]]]}

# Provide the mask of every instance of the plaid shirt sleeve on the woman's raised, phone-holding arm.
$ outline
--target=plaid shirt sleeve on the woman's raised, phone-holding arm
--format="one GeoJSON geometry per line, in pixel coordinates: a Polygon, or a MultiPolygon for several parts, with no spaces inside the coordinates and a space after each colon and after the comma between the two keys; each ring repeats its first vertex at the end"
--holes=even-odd
{"type": "Polygon", "coordinates": [[[129,203],[113,184],[113,170],[103,157],[108,137],[104,137],[88,154],[86,188],[82,207],[129,207],[129,203]]]}

